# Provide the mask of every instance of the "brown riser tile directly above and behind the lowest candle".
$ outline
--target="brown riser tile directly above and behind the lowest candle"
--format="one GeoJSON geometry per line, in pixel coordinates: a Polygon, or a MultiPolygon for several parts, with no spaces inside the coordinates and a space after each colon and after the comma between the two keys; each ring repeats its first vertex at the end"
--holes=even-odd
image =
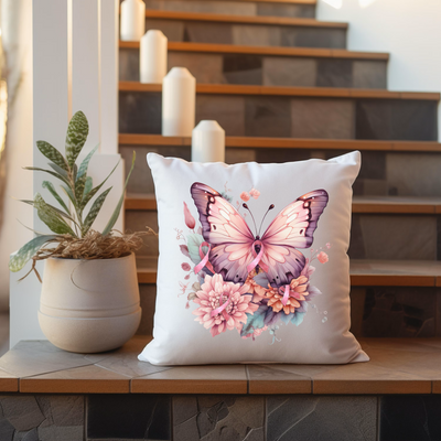
{"type": "Polygon", "coordinates": [[[245,136],[245,98],[232,95],[198,95],[196,125],[203,119],[214,119],[229,137],[245,136]]]}

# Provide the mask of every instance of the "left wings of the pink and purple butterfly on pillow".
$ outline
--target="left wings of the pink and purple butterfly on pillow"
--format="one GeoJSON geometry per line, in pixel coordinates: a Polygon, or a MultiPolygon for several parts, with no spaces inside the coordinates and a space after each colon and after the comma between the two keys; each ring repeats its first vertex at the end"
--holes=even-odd
{"type": "Polygon", "coordinates": [[[245,281],[252,261],[255,236],[237,209],[220,193],[195,182],[191,194],[200,214],[202,235],[212,246],[209,262],[214,270],[233,282],[245,281]]]}

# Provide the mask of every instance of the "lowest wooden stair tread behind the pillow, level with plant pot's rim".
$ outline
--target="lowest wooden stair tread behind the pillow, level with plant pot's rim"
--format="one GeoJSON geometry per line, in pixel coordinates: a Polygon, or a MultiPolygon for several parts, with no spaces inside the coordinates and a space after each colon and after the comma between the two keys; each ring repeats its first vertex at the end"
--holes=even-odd
{"type": "MultiPolygon", "coordinates": [[[[139,283],[157,282],[157,260],[138,258],[139,283]]],[[[441,261],[351,260],[352,287],[441,287],[441,261]]]]}

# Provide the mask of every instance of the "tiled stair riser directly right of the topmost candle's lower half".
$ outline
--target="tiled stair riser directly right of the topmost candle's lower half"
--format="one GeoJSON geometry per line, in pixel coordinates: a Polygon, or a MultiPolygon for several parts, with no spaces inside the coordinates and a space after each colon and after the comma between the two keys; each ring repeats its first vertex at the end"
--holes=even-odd
{"type": "Polygon", "coordinates": [[[172,42],[234,44],[246,46],[346,47],[346,30],[203,22],[148,18],[146,30],[159,29],[172,42]]]}

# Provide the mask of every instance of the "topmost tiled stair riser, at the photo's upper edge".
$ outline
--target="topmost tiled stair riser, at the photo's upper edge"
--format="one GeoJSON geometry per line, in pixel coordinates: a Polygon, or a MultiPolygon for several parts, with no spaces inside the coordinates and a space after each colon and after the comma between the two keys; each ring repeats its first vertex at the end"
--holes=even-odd
{"type": "Polygon", "coordinates": [[[313,19],[314,4],[289,4],[260,1],[144,0],[147,9],[249,17],[301,17],[313,19]]]}

